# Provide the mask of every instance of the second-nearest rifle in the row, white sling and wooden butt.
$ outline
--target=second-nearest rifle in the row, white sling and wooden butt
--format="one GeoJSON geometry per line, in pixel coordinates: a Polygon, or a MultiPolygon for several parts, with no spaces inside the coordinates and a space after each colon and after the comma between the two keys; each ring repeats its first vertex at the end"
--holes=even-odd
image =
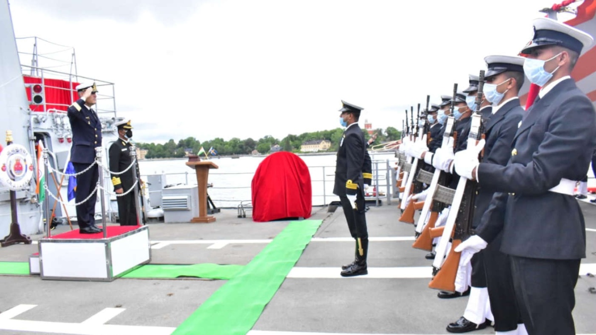
{"type": "MultiPolygon", "coordinates": [[[[443,149],[446,149],[450,144],[452,145],[452,143],[455,143],[454,123],[454,117],[451,116],[447,118],[447,122],[445,123],[445,133],[443,134],[443,142],[441,143],[441,148],[443,149]],[[454,138],[452,143],[450,143],[451,138],[454,138]]],[[[453,148],[451,148],[451,150],[453,150],[453,148]]],[[[430,231],[434,228],[434,225],[436,224],[437,219],[439,218],[439,213],[445,208],[445,203],[443,203],[440,200],[437,200],[442,198],[439,196],[439,194],[437,194],[437,190],[438,186],[445,187],[445,185],[447,185],[447,182],[448,173],[439,169],[435,169],[433,177],[430,181],[428,194],[426,196],[427,200],[424,201],[422,212],[420,213],[420,217],[418,218],[418,223],[416,225],[417,238],[416,241],[414,241],[414,244],[412,244],[412,247],[427,251],[433,249],[433,237],[430,234],[430,231]],[[429,210],[430,216],[428,222],[426,222],[426,216],[428,215],[429,210]]]]}

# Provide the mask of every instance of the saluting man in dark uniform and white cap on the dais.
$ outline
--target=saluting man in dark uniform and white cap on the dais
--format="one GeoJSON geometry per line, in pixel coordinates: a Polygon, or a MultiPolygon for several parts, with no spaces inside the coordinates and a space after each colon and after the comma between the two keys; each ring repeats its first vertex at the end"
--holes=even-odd
{"type": "MultiPolygon", "coordinates": [[[[95,83],[82,83],[76,86],[79,100],[68,108],[70,129],[73,132],[73,143],[70,148],[70,162],[77,173],[89,168],[95,161],[95,148],[101,147],[101,121],[91,108],[97,103],[95,83]]],[[[80,203],[89,197],[97,186],[99,170],[93,165],[89,170],[77,175],[75,201],[80,203]]],[[[103,229],[95,225],[95,201],[97,192],[87,201],[76,206],[76,218],[82,234],[95,234],[103,229]]]]}

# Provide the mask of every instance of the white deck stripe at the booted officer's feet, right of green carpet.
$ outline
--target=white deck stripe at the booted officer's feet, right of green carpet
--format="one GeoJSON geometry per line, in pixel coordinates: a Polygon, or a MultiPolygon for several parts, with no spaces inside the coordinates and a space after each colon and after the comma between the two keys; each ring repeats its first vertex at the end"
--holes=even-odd
{"type": "MultiPolygon", "coordinates": [[[[290,270],[286,278],[344,278],[340,275],[339,266],[334,268],[308,268],[296,266],[290,270]]],[[[401,266],[395,268],[368,268],[367,275],[344,279],[397,279],[397,278],[432,278],[431,266],[401,266]]],[[[579,274],[596,274],[596,263],[584,263],[579,266],[579,274]]]]}

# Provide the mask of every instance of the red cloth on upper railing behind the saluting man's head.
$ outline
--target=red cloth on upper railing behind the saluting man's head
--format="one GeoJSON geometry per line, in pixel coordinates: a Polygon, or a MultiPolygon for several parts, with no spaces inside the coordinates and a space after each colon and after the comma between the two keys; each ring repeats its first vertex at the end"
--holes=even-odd
{"type": "MultiPolygon", "coordinates": [[[[27,99],[31,101],[31,88],[27,84],[41,83],[44,85],[45,106],[48,110],[57,109],[66,111],[73,101],[79,98],[76,86],[79,83],[68,82],[60,79],[42,79],[41,77],[23,76],[27,99]]],[[[30,105],[32,111],[44,111],[44,105],[30,105]]]]}

